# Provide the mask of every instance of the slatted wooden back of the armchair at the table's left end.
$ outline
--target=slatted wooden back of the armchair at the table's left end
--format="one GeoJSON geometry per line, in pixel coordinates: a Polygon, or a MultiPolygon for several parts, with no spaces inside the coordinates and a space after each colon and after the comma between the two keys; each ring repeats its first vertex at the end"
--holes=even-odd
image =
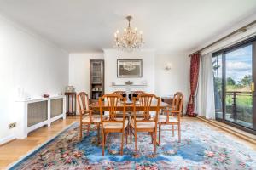
{"type": "MultiPolygon", "coordinates": [[[[80,92],[77,95],[77,103],[79,105],[79,115],[80,117],[83,117],[83,115],[90,115],[89,113],[89,97],[88,94],[85,92],[80,92]]],[[[91,116],[90,116],[90,122],[91,122],[91,116]]]]}

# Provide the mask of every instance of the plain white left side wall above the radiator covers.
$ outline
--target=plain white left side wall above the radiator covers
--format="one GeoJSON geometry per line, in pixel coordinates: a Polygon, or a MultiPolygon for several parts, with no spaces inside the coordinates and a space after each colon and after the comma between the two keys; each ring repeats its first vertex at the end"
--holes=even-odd
{"type": "MultiPolygon", "coordinates": [[[[27,97],[56,95],[68,83],[68,54],[21,26],[0,17],[0,144],[15,138],[17,88],[27,97]]],[[[17,124],[17,126],[19,126],[17,124]]]]}

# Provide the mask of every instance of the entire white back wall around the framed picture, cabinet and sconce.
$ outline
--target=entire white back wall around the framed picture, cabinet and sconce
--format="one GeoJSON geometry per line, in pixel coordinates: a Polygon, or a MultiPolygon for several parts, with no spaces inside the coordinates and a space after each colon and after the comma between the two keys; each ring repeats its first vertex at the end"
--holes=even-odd
{"type": "MultiPolygon", "coordinates": [[[[131,80],[141,83],[147,80],[146,91],[159,96],[167,96],[177,91],[183,92],[186,107],[189,99],[189,62],[188,54],[154,54],[154,51],[141,51],[125,54],[115,49],[105,49],[103,53],[83,53],[69,55],[69,84],[77,88],[77,92],[90,92],[90,59],[105,60],[105,92],[118,90],[111,86],[112,82],[124,83],[131,80]],[[143,59],[143,78],[117,78],[117,59],[143,59]],[[172,64],[170,71],[165,70],[166,63],[172,64]]],[[[185,109],[184,109],[185,111],[185,109]]]]}

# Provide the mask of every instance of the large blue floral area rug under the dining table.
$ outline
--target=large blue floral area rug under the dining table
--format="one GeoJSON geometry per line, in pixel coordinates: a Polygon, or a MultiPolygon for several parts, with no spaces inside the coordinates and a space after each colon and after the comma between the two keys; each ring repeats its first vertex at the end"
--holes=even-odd
{"type": "Polygon", "coordinates": [[[177,133],[172,137],[171,131],[163,131],[154,157],[148,133],[138,133],[139,156],[133,139],[124,145],[124,156],[119,156],[120,139],[119,133],[108,135],[102,156],[96,131],[89,136],[84,133],[79,141],[79,124],[75,123],[10,169],[256,169],[255,150],[201,122],[182,123],[181,143],[177,133]]]}

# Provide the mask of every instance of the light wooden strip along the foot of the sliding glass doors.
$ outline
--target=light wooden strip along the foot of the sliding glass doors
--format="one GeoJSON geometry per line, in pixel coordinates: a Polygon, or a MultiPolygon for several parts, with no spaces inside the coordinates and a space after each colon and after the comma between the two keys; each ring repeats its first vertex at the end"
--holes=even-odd
{"type": "Polygon", "coordinates": [[[245,139],[252,144],[256,144],[256,135],[241,131],[240,129],[237,129],[235,127],[230,127],[230,125],[224,124],[223,122],[217,122],[215,120],[206,119],[203,116],[197,116],[197,118],[201,121],[211,124],[214,127],[218,127],[228,133],[234,134],[241,139],[245,139]]]}

